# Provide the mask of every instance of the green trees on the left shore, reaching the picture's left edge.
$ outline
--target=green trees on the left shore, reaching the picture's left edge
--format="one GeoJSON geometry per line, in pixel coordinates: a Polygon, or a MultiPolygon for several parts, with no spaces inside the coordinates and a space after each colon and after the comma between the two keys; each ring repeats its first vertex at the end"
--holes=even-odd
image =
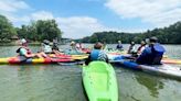
{"type": "Polygon", "coordinates": [[[32,21],[29,25],[23,24],[21,27],[14,27],[6,16],[0,15],[0,42],[8,42],[14,35],[19,38],[41,42],[43,40],[60,40],[62,32],[55,20],[38,20],[32,21]]]}

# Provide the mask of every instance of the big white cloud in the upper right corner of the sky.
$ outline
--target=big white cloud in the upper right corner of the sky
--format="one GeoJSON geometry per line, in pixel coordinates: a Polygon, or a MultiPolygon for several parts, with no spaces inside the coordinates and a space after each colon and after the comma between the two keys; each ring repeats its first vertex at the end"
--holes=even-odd
{"type": "Polygon", "coordinates": [[[108,0],[105,5],[121,19],[139,18],[155,26],[180,21],[180,0],[108,0]]]}

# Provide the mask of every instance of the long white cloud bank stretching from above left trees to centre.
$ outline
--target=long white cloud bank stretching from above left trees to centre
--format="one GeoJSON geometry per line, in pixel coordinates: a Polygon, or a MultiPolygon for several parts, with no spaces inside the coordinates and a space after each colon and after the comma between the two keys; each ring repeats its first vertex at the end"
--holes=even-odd
{"type": "Polygon", "coordinates": [[[82,38],[99,31],[118,31],[103,25],[97,19],[91,16],[54,16],[47,11],[38,11],[24,16],[10,16],[13,22],[28,24],[30,21],[55,19],[58,27],[63,32],[63,37],[82,38]]]}

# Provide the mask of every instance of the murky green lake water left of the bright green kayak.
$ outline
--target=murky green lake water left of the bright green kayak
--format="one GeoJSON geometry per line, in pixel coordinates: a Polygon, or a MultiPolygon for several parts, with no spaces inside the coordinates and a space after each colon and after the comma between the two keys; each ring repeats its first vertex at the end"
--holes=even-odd
{"type": "Polygon", "coordinates": [[[0,74],[0,101],[85,101],[78,67],[2,66],[0,74]]]}

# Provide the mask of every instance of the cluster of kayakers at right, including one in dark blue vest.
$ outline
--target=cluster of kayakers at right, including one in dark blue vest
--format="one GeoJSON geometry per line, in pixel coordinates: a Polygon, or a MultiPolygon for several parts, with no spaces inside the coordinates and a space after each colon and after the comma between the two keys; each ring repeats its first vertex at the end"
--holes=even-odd
{"type": "Polygon", "coordinates": [[[159,65],[161,64],[162,56],[166,49],[158,43],[157,37],[150,37],[146,41],[141,41],[138,49],[135,46],[135,42],[130,43],[128,54],[131,54],[136,58],[138,64],[159,65]]]}

